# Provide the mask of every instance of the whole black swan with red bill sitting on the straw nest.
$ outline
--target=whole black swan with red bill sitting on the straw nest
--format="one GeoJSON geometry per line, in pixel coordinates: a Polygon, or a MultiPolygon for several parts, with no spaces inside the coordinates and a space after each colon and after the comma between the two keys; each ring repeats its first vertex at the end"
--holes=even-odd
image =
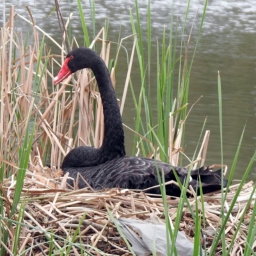
{"type": "MultiPolygon", "coordinates": [[[[92,186],[93,189],[129,188],[146,189],[159,184],[157,168],[163,170],[165,181],[176,180],[173,170],[183,184],[188,175],[188,169],[170,166],[170,164],[143,157],[125,156],[124,130],[120,109],[116,100],[115,90],[111,83],[108,68],[100,56],[92,49],[79,47],[67,54],[67,58],[58,74],[54,84],[58,84],[70,74],[83,68],[92,69],[97,80],[104,111],[104,141],[100,148],[77,147],[65,156],[61,169],[63,173],[77,179],[77,173],[92,186]],[[156,167],[157,165],[157,167],[156,167]]],[[[221,189],[221,170],[211,172],[209,168],[202,167],[191,171],[189,184],[195,191],[198,189],[200,176],[203,193],[221,189]]],[[[68,179],[69,184],[73,184],[68,179]]],[[[227,180],[223,179],[224,187],[227,180]]],[[[79,178],[79,188],[86,187],[83,179],[79,178]]],[[[159,194],[160,189],[152,188],[148,193],[159,194]]],[[[175,184],[166,185],[166,194],[180,196],[180,188],[175,184]]]]}

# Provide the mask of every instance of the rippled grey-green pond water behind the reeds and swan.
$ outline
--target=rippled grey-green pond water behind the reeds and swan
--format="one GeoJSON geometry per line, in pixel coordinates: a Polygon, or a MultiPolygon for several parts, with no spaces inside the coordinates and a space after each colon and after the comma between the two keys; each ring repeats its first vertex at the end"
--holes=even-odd
{"type": "MultiPolygon", "coordinates": [[[[145,32],[147,29],[147,1],[139,1],[141,24],[145,32]]],[[[182,26],[186,1],[174,1],[173,13],[178,17],[182,26]]],[[[17,1],[15,12],[28,18],[25,5],[28,4],[36,20],[36,25],[47,31],[52,37],[61,43],[56,14],[51,16],[53,1],[46,0],[44,5],[41,1],[17,1]],[[43,7],[43,8],[42,8],[43,7]]],[[[72,32],[77,40],[83,45],[82,29],[79,21],[79,13],[76,1],[70,3],[67,0],[60,2],[61,11],[66,18],[68,13],[73,12],[72,32]]],[[[8,13],[6,4],[6,12],[8,13]]],[[[126,1],[96,1],[96,31],[109,20],[108,39],[117,41],[120,24],[122,23],[121,36],[131,35],[129,8],[134,12],[134,2],[126,1]],[[118,4],[117,4],[118,3],[118,4]],[[122,21],[121,21],[122,20],[122,21]]],[[[90,2],[84,1],[84,16],[90,25],[90,2]]],[[[156,39],[161,39],[164,24],[170,24],[172,1],[151,1],[152,8],[152,47],[156,47],[156,39]]],[[[188,24],[191,24],[196,12],[198,19],[195,22],[191,47],[195,45],[195,38],[200,22],[200,13],[204,8],[204,1],[192,0],[188,24]]],[[[176,19],[175,19],[176,20],[176,19]]],[[[2,22],[1,22],[2,23],[2,22]]],[[[19,22],[20,31],[26,33],[28,25],[19,22]]],[[[17,23],[16,23],[17,26],[17,23]]],[[[189,33],[190,26],[187,26],[189,33]]],[[[168,27],[166,28],[168,29],[168,27]]],[[[196,104],[189,115],[186,123],[186,154],[193,156],[198,138],[207,118],[206,129],[211,131],[209,149],[206,164],[221,163],[220,152],[220,125],[218,116],[218,86],[217,74],[220,71],[223,96],[223,162],[230,168],[234,159],[239,139],[243,132],[244,138],[236,168],[236,179],[241,179],[244,170],[249,163],[256,147],[256,7],[255,0],[225,1],[212,0],[207,7],[204,29],[200,43],[196,51],[189,86],[189,106],[201,95],[202,99],[196,104]]],[[[187,34],[188,34],[187,33],[187,34]]],[[[93,31],[90,31],[93,38],[93,31]]],[[[144,33],[145,34],[145,33],[144,33]]],[[[146,36],[146,34],[145,34],[146,36]]],[[[48,42],[47,42],[48,43],[48,42]]],[[[127,43],[129,46],[129,42],[127,43]]],[[[54,49],[56,50],[56,49],[54,49]]],[[[57,50],[56,50],[57,51],[57,50]]],[[[154,52],[154,51],[153,51],[154,52]]],[[[58,53],[58,52],[57,52],[58,53]]],[[[156,57],[156,56],[155,56],[156,57]]],[[[154,54],[152,56],[154,59],[154,54]]],[[[126,60],[125,60],[126,61],[126,60]]],[[[134,63],[136,67],[136,63],[134,63]]],[[[122,68],[118,70],[119,74],[122,68]]],[[[133,85],[140,90],[140,83],[136,86],[136,70],[133,74],[133,85]]],[[[140,81],[140,79],[138,79],[140,81]]],[[[117,94],[122,93],[122,74],[116,77],[117,94]]],[[[153,106],[154,108],[154,106],[153,106]]],[[[130,97],[125,102],[123,113],[124,124],[134,127],[135,112],[133,101],[130,97]]],[[[126,148],[131,154],[133,135],[126,131],[126,148]]],[[[250,179],[256,180],[256,164],[253,165],[250,179]]]]}

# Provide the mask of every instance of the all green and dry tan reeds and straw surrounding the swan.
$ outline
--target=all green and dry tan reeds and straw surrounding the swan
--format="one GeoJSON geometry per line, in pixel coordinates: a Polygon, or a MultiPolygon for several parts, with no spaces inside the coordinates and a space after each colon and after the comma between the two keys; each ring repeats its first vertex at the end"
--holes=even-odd
{"type": "MultiPolygon", "coordinates": [[[[83,26],[83,44],[91,47],[97,45],[98,52],[109,67],[115,86],[115,68],[118,65],[120,49],[125,48],[123,43],[127,38],[122,38],[114,42],[115,44],[107,41],[107,26],[97,34],[94,1],[90,1],[93,38],[90,37],[88,22],[83,15],[83,3],[77,2],[83,26]],[[116,45],[115,60],[109,60],[113,45],[116,45]]],[[[204,24],[207,1],[193,51],[189,49],[193,30],[191,29],[189,35],[185,32],[188,26],[193,27],[187,24],[189,4],[188,1],[181,29],[173,26],[173,15],[170,15],[170,24],[164,28],[161,42],[157,42],[157,68],[154,68],[151,61],[153,37],[150,1],[148,0],[148,27],[145,36],[141,28],[140,6],[135,0],[135,12],[130,10],[132,35],[129,38],[133,40],[132,50],[128,52],[125,49],[127,74],[120,106],[123,111],[130,86],[136,109],[135,125],[129,127],[134,132],[133,153],[135,155],[139,151],[141,156],[155,157],[173,165],[184,163],[183,158],[188,161],[188,157],[182,153],[182,134],[189,114],[189,76],[204,24]],[[147,45],[143,42],[145,37],[147,45]],[[176,49],[180,49],[179,54],[176,49]],[[140,67],[139,97],[134,93],[131,79],[133,61],[137,61],[140,67]],[[156,84],[150,83],[149,77],[152,73],[156,76],[156,84]],[[151,89],[155,87],[156,124],[152,118],[155,112],[151,108],[151,89]]],[[[1,256],[29,255],[31,252],[35,255],[42,252],[44,255],[134,255],[125,237],[120,238],[122,231],[120,227],[115,227],[113,221],[119,216],[136,216],[143,220],[150,214],[157,215],[166,223],[166,237],[167,240],[170,237],[172,241],[172,245],[167,244],[168,255],[177,255],[175,241],[180,229],[185,230],[187,236],[193,240],[193,255],[256,254],[256,187],[252,183],[244,184],[256,152],[248,164],[241,184],[236,186],[230,183],[241,150],[243,134],[230,170],[228,188],[212,197],[196,196],[195,191],[190,191],[195,197],[188,198],[188,180],[184,187],[180,184],[182,196],[179,200],[166,197],[163,185],[160,185],[163,198],[149,198],[144,193],[137,194],[133,191],[121,193],[119,189],[99,193],[93,193],[90,189],[63,190],[66,178],[60,177],[57,169],[66,152],[84,143],[100,147],[103,140],[100,125],[103,116],[97,84],[92,79],[92,72],[83,70],[67,79],[60,88],[54,87],[54,70],[60,67],[65,49],[70,47],[68,44],[67,47],[61,47],[46,31],[35,26],[32,17],[31,22],[26,20],[33,30],[34,38],[33,45],[28,45],[23,34],[14,33],[13,13],[12,9],[10,20],[1,28],[0,35],[1,256]],[[42,40],[38,39],[38,32],[42,35],[42,40]],[[58,47],[59,52],[49,50],[45,45],[45,37],[58,47]],[[73,87],[70,88],[68,84],[73,84],[73,87]],[[77,88],[76,84],[81,86],[77,88]],[[50,170],[45,167],[48,164],[51,164],[50,170]],[[241,196],[246,199],[241,199],[241,196]],[[188,219],[189,223],[186,222],[188,219]],[[188,225],[190,226],[187,227],[188,225]],[[207,230],[209,227],[212,228],[211,234],[207,230]]],[[[72,24],[67,24],[67,28],[68,26],[72,27],[72,24]]],[[[70,33],[64,37],[72,48],[77,46],[70,33]]],[[[223,152],[220,77],[218,92],[223,152]]],[[[202,127],[198,147],[189,163],[190,168],[193,164],[204,164],[207,138],[202,127]],[[203,137],[200,147],[199,142],[203,137]]],[[[223,165],[223,161],[221,164],[223,165]]],[[[163,178],[159,172],[159,180],[164,182],[163,178]]]]}

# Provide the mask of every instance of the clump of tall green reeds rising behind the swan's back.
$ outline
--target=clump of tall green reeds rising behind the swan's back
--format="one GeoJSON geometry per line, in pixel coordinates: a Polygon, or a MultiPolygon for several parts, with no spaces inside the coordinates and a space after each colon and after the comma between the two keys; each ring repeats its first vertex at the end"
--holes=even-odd
{"type": "MultiPolygon", "coordinates": [[[[159,158],[162,161],[170,161],[172,158],[170,136],[172,136],[172,147],[175,147],[175,141],[178,142],[180,139],[179,136],[185,127],[183,123],[187,115],[189,76],[198,40],[202,33],[207,1],[205,1],[195,48],[192,51],[189,49],[189,44],[191,33],[193,33],[193,24],[188,25],[186,23],[189,13],[189,4],[190,1],[188,1],[188,8],[185,13],[182,28],[179,26],[174,27],[173,6],[171,6],[170,24],[168,24],[166,28],[163,28],[161,42],[155,42],[156,51],[154,51],[154,58],[157,60],[155,69],[152,68],[152,66],[154,67],[154,63],[152,64],[151,61],[152,42],[156,40],[153,39],[151,31],[152,10],[150,9],[150,1],[148,1],[148,26],[145,32],[146,35],[143,35],[143,29],[141,28],[138,1],[135,1],[135,12],[132,13],[130,10],[132,33],[138,35],[136,52],[140,65],[141,78],[139,82],[141,84],[140,97],[136,97],[131,83],[134,105],[136,106],[135,131],[145,135],[145,138],[151,142],[151,144],[148,144],[146,140],[140,140],[138,136],[134,136],[133,154],[136,154],[136,147],[138,147],[139,144],[143,156],[150,156],[150,154],[152,154],[152,145],[154,145],[153,147],[156,151],[158,151],[157,147],[159,147],[159,152],[157,152],[159,153],[159,158]],[[187,28],[187,26],[192,27],[189,35],[185,34],[185,28],[187,28]],[[144,40],[144,38],[147,38],[147,40],[144,40]],[[180,47],[179,55],[176,51],[178,45],[180,47]],[[145,48],[146,50],[144,50],[145,48]],[[189,54],[191,54],[190,58],[189,54]],[[156,84],[150,82],[152,77],[156,77],[156,84]],[[152,88],[153,91],[156,88],[157,92],[156,109],[152,109],[152,102],[155,100],[155,95],[152,95],[152,88]],[[145,115],[143,115],[144,112],[145,115]],[[157,118],[153,118],[155,113],[157,113],[157,118]],[[170,115],[171,118],[173,118],[173,127],[170,127],[170,115]],[[171,132],[172,134],[170,134],[171,132]]],[[[136,85],[137,84],[138,81],[136,85]]]]}

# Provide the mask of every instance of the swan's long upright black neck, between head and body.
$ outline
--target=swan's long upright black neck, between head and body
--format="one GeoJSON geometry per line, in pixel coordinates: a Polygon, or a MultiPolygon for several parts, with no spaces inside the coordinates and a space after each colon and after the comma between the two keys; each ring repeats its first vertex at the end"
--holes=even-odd
{"type": "Polygon", "coordinates": [[[99,86],[104,113],[104,140],[100,147],[100,156],[106,159],[100,159],[100,162],[124,157],[124,129],[108,68],[100,57],[91,68],[99,86]]]}

